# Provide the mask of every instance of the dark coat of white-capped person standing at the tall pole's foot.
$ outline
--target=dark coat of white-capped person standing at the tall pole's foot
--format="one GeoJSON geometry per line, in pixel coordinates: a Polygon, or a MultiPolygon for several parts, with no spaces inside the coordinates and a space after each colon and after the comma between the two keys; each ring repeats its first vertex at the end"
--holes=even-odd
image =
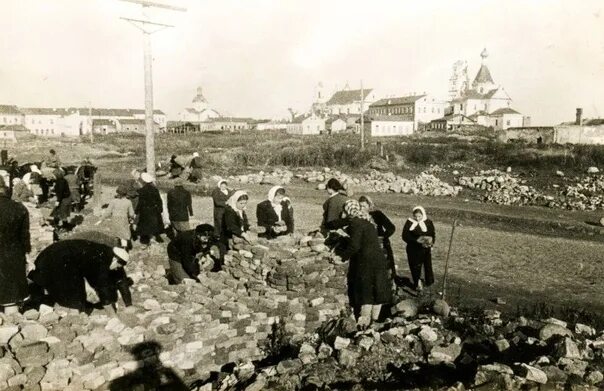
{"type": "Polygon", "coordinates": [[[138,191],[138,203],[134,211],[138,215],[137,232],[142,236],[155,236],[164,232],[163,202],[159,190],[146,183],[138,191]]]}

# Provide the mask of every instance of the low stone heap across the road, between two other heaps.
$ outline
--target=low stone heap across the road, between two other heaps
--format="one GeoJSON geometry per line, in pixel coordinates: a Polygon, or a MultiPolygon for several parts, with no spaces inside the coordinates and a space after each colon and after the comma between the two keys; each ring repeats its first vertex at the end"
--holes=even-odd
{"type": "Polygon", "coordinates": [[[499,170],[480,171],[471,177],[462,176],[457,182],[460,186],[484,191],[484,201],[501,205],[547,206],[554,200],[554,197],[528,186],[525,180],[499,170]]]}

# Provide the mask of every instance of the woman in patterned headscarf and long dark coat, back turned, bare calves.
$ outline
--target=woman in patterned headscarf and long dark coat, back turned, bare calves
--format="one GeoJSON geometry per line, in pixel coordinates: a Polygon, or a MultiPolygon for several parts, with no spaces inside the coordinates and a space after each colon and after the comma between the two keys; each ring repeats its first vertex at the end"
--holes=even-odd
{"type": "Polygon", "coordinates": [[[348,297],[357,316],[357,324],[365,328],[378,320],[382,304],[391,302],[392,281],[388,261],[369,213],[363,211],[356,200],[348,200],[344,204],[344,214],[350,235],[350,243],[342,252],[343,259],[350,259],[348,297]]]}

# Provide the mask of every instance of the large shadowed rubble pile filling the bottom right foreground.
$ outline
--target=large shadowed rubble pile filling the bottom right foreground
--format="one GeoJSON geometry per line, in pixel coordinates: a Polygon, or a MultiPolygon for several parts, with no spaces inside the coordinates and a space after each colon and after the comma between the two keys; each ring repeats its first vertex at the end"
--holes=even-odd
{"type": "MultiPolygon", "coordinates": [[[[437,300],[433,310],[444,306],[437,300]]],[[[575,324],[571,330],[553,318],[506,321],[496,310],[479,317],[452,311],[445,322],[442,312],[417,315],[419,307],[405,300],[394,307],[389,323],[368,331],[357,332],[354,321],[342,319],[334,334],[305,339],[297,357],[258,370],[248,390],[329,389],[343,383],[439,390],[485,384],[507,390],[604,386],[604,334],[590,326],[575,324]]]]}

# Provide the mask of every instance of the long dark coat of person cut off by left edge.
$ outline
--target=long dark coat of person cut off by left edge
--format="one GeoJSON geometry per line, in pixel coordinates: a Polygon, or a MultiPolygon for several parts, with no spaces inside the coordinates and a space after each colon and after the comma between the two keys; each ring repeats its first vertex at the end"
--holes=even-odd
{"type": "Polygon", "coordinates": [[[30,251],[27,208],[0,195],[0,304],[27,297],[25,254],[30,251]]]}

